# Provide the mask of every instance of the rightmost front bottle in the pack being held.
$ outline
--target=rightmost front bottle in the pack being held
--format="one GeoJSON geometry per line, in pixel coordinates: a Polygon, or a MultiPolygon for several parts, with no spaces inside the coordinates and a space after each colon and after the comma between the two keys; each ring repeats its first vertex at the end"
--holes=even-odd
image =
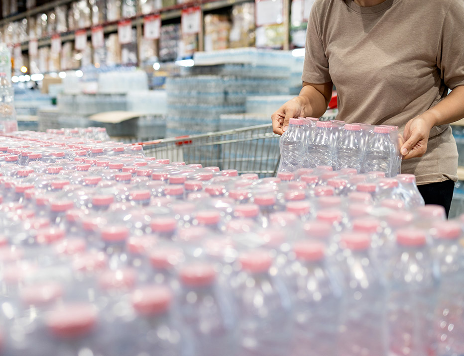
{"type": "Polygon", "coordinates": [[[396,151],[396,145],[390,138],[390,129],[384,126],[375,126],[366,142],[363,172],[385,172],[386,177],[396,175],[399,169],[399,167],[394,167],[396,151]]]}

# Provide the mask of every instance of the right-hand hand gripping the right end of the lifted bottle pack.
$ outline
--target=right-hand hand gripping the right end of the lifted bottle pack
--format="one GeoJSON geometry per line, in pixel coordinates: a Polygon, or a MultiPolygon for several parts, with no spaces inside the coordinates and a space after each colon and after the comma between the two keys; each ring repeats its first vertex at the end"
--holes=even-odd
{"type": "Polygon", "coordinates": [[[430,130],[433,127],[431,120],[417,116],[408,121],[404,128],[404,144],[401,146],[403,160],[422,157],[427,152],[430,130]]]}

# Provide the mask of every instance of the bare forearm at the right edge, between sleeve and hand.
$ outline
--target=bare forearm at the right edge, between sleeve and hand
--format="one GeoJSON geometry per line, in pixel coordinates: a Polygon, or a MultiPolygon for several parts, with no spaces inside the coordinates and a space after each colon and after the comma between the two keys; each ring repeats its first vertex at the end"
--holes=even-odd
{"type": "Polygon", "coordinates": [[[456,87],[437,105],[424,112],[421,117],[431,126],[450,124],[464,117],[464,86],[456,87]]]}

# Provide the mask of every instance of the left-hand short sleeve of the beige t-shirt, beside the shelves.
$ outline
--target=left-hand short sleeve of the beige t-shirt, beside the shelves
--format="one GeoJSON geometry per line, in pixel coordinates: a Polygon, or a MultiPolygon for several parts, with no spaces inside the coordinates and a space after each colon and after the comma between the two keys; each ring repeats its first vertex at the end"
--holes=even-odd
{"type": "Polygon", "coordinates": [[[308,27],[306,29],[305,62],[303,82],[323,84],[331,81],[329,59],[326,57],[321,34],[318,30],[318,14],[316,5],[311,8],[308,27]]]}

